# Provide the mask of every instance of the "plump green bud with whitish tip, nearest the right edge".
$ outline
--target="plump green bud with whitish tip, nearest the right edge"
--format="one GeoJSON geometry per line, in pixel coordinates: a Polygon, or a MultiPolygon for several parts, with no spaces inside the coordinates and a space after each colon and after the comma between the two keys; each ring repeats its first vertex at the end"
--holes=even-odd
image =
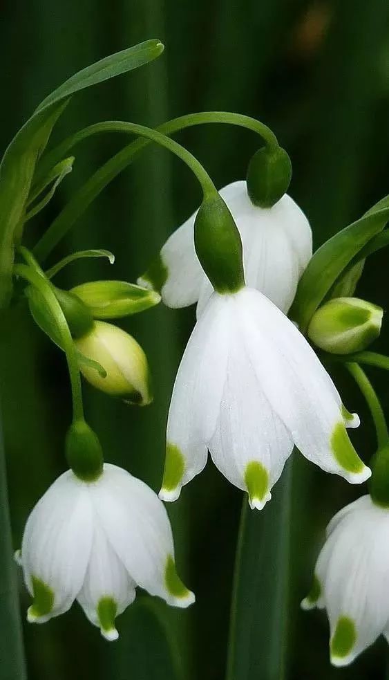
{"type": "Polygon", "coordinates": [[[321,349],[349,354],[368,347],[381,331],[383,310],[358,297],[336,297],[312,316],[308,336],[321,349]]]}

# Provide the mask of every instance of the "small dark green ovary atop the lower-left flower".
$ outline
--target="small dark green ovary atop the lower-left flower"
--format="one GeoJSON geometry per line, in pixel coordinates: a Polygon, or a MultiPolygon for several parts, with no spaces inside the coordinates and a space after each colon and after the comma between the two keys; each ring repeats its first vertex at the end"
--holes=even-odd
{"type": "Polygon", "coordinates": [[[103,452],[97,434],[85,421],[70,425],[65,441],[68,466],[82,481],[95,481],[103,471],[103,452]]]}

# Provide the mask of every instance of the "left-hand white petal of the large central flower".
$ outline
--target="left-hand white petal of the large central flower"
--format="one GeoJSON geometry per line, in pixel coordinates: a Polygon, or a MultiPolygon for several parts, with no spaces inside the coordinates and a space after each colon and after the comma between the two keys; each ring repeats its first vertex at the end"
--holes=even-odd
{"type": "Polygon", "coordinates": [[[173,500],[205,467],[225,383],[232,297],[214,293],[184,351],[167,424],[167,461],[160,497],[173,500]],[[173,459],[174,455],[174,459],[173,459]]]}

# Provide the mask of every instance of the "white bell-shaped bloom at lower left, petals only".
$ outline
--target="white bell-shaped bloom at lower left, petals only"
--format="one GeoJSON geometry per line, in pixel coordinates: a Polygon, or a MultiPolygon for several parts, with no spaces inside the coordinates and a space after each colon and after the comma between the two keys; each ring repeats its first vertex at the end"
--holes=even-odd
{"type": "Polygon", "coordinates": [[[77,598],[108,640],[117,638],[115,616],[133,602],[137,585],[176,607],[194,601],[175,571],[160,499],[108,463],[97,481],[68,470],[50,486],[28,518],[18,560],[34,597],[28,621],[44,623],[77,598]]]}

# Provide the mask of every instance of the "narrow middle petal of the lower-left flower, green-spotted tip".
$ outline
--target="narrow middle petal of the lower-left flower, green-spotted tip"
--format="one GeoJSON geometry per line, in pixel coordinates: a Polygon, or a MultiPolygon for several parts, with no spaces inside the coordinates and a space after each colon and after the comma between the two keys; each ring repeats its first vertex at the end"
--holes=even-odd
{"type": "Polygon", "coordinates": [[[135,582],[117,557],[95,515],[93,544],[79,604],[93,625],[108,640],[118,637],[115,617],[135,600],[135,582]]]}

